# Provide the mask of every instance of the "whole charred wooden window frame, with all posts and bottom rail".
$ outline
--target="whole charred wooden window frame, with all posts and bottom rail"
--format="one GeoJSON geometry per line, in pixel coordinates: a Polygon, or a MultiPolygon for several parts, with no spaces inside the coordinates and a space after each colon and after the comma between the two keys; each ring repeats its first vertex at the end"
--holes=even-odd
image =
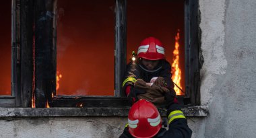
{"type": "MultiPolygon", "coordinates": [[[[56,94],[57,33],[54,10],[56,1],[12,0],[11,96],[0,96],[0,106],[31,107],[33,92],[36,97],[36,108],[44,108],[46,101],[51,107],[73,107],[81,103],[84,103],[83,107],[129,106],[125,94],[122,93],[127,54],[127,1],[115,0],[115,3],[115,96],[52,97],[52,94],[56,94]],[[42,13],[48,14],[49,18],[40,21],[42,13]],[[45,41],[48,49],[46,53],[41,53],[41,49],[46,46],[42,44],[45,41]],[[38,59],[44,54],[49,54],[50,57],[41,56],[38,59]],[[36,62],[33,61],[33,57],[36,62]],[[44,66],[47,66],[47,70],[44,66]],[[45,79],[44,75],[49,77],[45,79]]],[[[200,104],[199,69],[203,63],[203,57],[199,47],[201,31],[198,5],[198,0],[185,0],[186,95],[179,96],[179,99],[190,105],[200,104]]]]}

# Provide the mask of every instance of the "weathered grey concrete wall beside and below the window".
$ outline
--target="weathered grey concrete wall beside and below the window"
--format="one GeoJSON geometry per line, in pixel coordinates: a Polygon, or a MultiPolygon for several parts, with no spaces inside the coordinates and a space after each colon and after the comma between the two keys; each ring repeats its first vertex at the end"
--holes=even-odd
{"type": "MultiPolygon", "coordinates": [[[[201,103],[193,137],[256,137],[256,1],[199,0],[201,103]]],[[[118,137],[125,117],[1,119],[0,137],[118,137]]]]}

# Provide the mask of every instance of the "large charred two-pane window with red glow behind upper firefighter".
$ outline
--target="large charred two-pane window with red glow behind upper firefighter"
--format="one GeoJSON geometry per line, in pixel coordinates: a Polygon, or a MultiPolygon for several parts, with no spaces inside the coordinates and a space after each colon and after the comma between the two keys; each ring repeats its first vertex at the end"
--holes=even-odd
{"type": "Polygon", "coordinates": [[[181,99],[198,105],[202,61],[198,1],[144,3],[144,0],[13,0],[13,48],[8,69],[12,74],[9,87],[13,104],[9,105],[128,106],[121,84],[131,50],[137,50],[143,38],[154,35],[171,46],[166,56],[172,63],[178,30],[180,50],[184,51],[180,65],[185,94],[181,94],[181,99]],[[158,14],[150,10],[154,7],[158,14]],[[138,21],[142,15],[145,15],[143,20],[138,21]],[[151,16],[156,21],[164,18],[164,24],[150,22],[151,16]],[[148,28],[152,26],[156,28],[150,32],[148,28]]]}

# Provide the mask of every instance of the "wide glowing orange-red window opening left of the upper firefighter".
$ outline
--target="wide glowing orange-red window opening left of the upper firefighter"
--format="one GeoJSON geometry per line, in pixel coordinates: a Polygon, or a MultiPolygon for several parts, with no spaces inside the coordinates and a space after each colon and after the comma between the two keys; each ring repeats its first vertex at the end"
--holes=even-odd
{"type": "Polygon", "coordinates": [[[114,95],[114,9],[113,0],[58,1],[57,95],[114,95]]]}

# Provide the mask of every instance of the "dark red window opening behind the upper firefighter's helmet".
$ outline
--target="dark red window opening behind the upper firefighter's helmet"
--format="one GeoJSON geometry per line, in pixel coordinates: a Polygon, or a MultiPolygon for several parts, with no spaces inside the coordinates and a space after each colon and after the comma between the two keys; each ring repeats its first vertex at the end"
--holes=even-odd
{"type": "Polygon", "coordinates": [[[177,57],[173,56],[173,51],[178,30],[180,86],[185,92],[184,1],[127,1],[127,63],[131,59],[131,52],[135,50],[137,53],[141,40],[154,36],[165,46],[166,60],[172,65],[174,57],[177,57]]]}

